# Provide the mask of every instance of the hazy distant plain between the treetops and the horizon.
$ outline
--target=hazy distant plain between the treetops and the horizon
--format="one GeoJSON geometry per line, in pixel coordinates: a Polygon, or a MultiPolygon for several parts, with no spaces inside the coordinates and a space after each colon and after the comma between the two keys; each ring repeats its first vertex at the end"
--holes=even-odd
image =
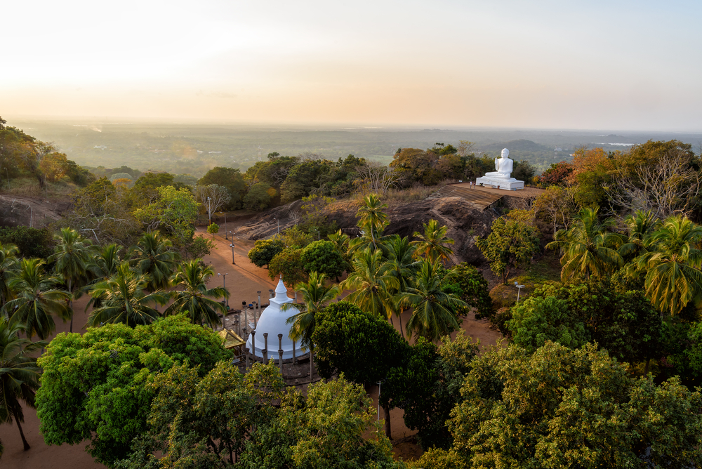
{"type": "Polygon", "coordinates": [[[84,166],[131,166],[201,176],[213,166],[245,171],[270,152],[318,154],[336,160],[354,154],[383,164],[400,147],[429,148],[435,143],[475,143],[475,150],[498,154],[508,147],[512,159],[527,159],[543,171],[569,160],[574,148],[622,150],[646,140],[677,138],[698,145],[702,134],[610,133],[514,129],[312,128],[144,124],[97,121],[11,121],[40,140],[55,143],[69,159],[84,166]]]}

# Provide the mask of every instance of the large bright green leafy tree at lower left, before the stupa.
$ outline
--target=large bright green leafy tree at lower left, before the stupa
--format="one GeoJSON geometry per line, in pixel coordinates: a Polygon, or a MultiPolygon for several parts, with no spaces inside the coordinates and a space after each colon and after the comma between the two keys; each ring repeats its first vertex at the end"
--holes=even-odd
{"type": "Polygon", "coordinates": [[[60,334],[38,360],[44,369],[37,415],[47,444],[86,447],[96,461],[112,465],[129,454],[129,443],[147,430],[157,374],[187,363],[205,376],[231,352],[211,329],[173,316],[131,328],[107,324],[60,334]]]}

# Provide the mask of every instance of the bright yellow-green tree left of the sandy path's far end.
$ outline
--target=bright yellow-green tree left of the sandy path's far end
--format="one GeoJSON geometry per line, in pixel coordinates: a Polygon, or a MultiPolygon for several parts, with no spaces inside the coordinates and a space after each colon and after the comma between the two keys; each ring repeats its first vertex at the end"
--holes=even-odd
{"type": "Polygon", "coordinates": [[[190,190],[176,190],[173,186],[157,187],[159,197],[148,206],[136,209],[134,216],[148,231],[159,229],[168,233],[176,242],[185,244],[192,239],[197,207],[190,190]]]}

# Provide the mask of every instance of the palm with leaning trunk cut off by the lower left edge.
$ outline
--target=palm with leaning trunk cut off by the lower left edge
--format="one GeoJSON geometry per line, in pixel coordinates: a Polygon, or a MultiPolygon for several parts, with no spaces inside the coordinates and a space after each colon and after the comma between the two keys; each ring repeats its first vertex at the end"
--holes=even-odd
{"type": "Polygon", "coordinates": [[[46,346],[46,342],[34,343],[20,338],[22,331],[25,327],[20,322],[0,316],[0,423],[12,423],[13,420],[17,423],[27,451],[29,443],[22,431],[25,415],[20,402],[32,409],[37,408],[34,391],[39,389],[41,368],[32,355],[46,346]]]}

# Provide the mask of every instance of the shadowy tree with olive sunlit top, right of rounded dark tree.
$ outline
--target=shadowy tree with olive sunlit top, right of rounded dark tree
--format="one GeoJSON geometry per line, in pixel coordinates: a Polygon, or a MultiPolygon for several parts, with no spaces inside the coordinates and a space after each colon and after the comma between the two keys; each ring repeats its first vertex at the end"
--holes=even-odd
{"type": "Polygon", "coordinates": [[[463,401],[461,386],[478,344],[458,331],[456,339],[442,338],[434,345],[420,337],[405,357],[406,363],[393,368],[383,383],[381,401],[404,410],[407,428],[418,431],[426,451],[431,447],[449,449],[453,437],[446,428],[451,410],[463,401]]]}

